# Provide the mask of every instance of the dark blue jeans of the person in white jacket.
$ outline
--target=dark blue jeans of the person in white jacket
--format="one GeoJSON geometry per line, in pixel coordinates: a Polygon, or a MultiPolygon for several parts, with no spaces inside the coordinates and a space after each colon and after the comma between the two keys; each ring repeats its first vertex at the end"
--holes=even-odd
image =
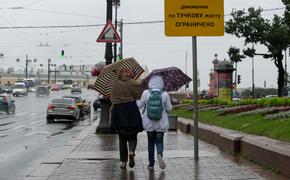
{"type": "Polygon", "coordinates": [[[157,149],[157,154],[160,154],[163,157],[163,136],[164,132],[147,132],[148,137],[148,157],[149,157],[149,166],[154,166],[154,154],[155,154],[155,145],[157,149]]]}

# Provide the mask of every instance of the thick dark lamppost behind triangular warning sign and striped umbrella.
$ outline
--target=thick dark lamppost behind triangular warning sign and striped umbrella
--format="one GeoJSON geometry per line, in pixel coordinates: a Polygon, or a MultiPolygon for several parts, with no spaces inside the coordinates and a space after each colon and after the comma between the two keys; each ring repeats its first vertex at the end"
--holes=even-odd
{"type": "MultiPolygon", "coordinates": [[[[113,0],[107,0],[107,22],[109,20],[112,21],[112,2],[113,0]]],[[[106,65],[112,63],[113,59],[113,51],[112,51],[112,43],[106,43],[106,50],[105,50],[105,59],[106,65]]],[[[101,102],[101,117],[99,125],[96,129],[96,133],[111,133],[111,124],[110,124],[110,107],[111,102],[108,98],[100,99],[101,102]]]]}

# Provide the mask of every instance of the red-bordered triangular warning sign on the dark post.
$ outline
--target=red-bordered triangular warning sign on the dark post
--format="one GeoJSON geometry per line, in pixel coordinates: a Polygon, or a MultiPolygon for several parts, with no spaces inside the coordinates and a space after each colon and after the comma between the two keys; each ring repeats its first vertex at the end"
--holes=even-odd
{"type": "Polygon", "coordinates": [[[108,20],[107,24],[99,35],[97,42],[121,42],[121,38],[114,28],[111,20],[108,20]]]}

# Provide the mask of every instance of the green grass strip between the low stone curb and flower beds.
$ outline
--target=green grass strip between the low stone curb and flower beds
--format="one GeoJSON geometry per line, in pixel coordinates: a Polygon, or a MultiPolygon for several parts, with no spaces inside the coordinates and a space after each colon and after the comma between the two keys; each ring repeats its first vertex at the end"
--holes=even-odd
{"type": "MultiPolygon", "coordinates": [[[[193,112],[186,109],[176,109],[171,114],[187,119],[192,119],[193,117],[193,112]]],[[[199,121],[205,124],[290,142],[290,118],[266,120],[261,114],[220,116],[215,111],[201,111],[198,114],[199,121]]]]}

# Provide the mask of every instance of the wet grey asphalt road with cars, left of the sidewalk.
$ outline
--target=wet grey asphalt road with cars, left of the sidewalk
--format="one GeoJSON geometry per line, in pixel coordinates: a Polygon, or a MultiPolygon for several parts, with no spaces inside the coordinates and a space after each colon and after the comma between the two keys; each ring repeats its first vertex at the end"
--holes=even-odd
{"type": "MultiPolygon", "coordinates": [[[[75,126],[62,120],[46,124],[46,107],[54,97],[70,95],[69,90],[51,92],[50,96],[15,97],[16,113],[0,113],[0,179],[23,179],[42,159],[77,136],[82,123],[93,123],[99,116],[92,108],[91,117],[85,116],[75,126]]],[[[91,101],[96,92],[83,89],[82,98],[91,101]]]]}

